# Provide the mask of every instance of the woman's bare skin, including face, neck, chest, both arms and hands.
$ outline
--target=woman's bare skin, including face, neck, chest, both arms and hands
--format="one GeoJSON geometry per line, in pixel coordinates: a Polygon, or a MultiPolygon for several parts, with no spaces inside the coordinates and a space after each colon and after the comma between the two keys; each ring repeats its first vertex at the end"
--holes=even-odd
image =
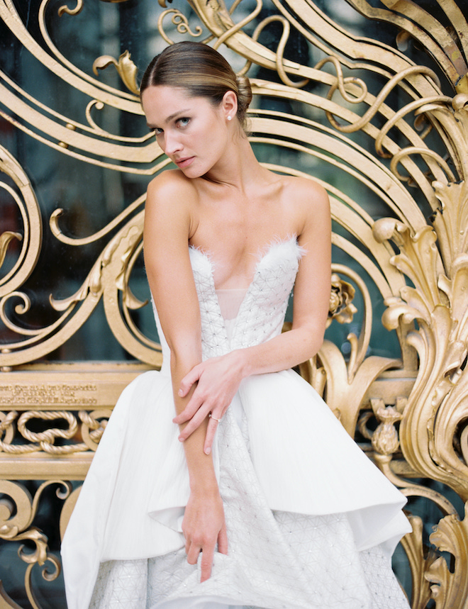
{"type": "Polygon", "coordinates": [[[330,298],[330,208],[316,182],[274,174],[257,162],[236,118],[233,91],[215,107],[206,98],[189,97],[182,87],[150,86],[142,104],[157,143],[179,167],[148,186],[145,264],[171,352],[174,423],[180,426],[189,469],[182,523],[187,560],[195,564],[202,551],[205,581],[216,545],[218,552],[228,552],[211,458],[216,419],[246,376],[288,369],[320,348],[330,298]],[[188,246],[210,252],[217,289],[247,288],[257,254],[272,240],[291,235],[306,250],[296,277],[291,331],[202,362],[188,246]]]}

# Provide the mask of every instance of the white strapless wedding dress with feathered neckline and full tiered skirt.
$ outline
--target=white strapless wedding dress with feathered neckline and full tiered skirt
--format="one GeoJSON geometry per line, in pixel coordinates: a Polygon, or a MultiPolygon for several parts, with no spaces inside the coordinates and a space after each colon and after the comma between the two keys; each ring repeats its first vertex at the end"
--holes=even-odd
{"type": "MultiPolygon", "coordinates": [[[[190,257],[204,359],[281,332],[301,258],[295,238],[269,247],[232,298],[216,294],[209,256],[191,248],[190,257]],[[236,299],[238,311],[225,313],[236,299]]],[[[200,583],[184,552],[189,477],[158,330],[162,370],[123,391],[67,527],[68,608],[408,609],[390,564],[410,530],[406,499],[291,370],[244,379],[218,425],[229,551],[200,583]]]]}

